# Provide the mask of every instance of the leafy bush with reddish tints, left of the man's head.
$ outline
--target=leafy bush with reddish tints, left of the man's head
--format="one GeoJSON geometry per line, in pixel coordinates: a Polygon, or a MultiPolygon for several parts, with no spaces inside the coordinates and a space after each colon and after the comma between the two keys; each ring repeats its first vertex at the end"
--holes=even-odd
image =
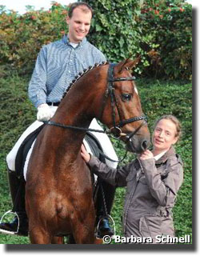
{"type": "Polygon", "coordinates": [[[62,38],[66,29],[66,7],[54,3],[49,11],[35,11],[29,6],[26,14],[0,9],[0,77],[6,71],[30,74],[42,45],[62,38]]]}

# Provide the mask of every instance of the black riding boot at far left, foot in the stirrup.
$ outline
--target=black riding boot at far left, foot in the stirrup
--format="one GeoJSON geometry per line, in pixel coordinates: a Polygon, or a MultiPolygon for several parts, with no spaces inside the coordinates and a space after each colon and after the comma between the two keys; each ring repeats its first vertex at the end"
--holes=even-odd
{"type": "Polygon", "coordinates": [[[25,208],[25,185],[23,178],[17,178],[13,171],[8,170],[10,194],[13,202],[13,212],[18,214],[12,222],[2,222],[0,232],[5,234],[28,235],[28,218],[25,208]],[[19,226],[18,226],[19,220],[19,226]]]}

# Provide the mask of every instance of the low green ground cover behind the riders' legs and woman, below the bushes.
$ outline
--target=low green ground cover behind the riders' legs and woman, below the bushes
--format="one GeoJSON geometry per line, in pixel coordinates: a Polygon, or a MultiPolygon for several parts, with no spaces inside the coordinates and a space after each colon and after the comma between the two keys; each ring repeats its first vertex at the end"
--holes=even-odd
{"type": "MultiPolygon", "coordinates": [[[[6,154],[14,146],[18,136],[34,121],[35,110],[27,97],[29,78],[13,75],[0,78],[0,216],[11,209],[8,182],[6,178],[6,154]]],[[[190,82],[166,82],[158,80],[139,80],[138,90],[141,96],[143,112],[149,118],[150,130],[155,119],[162,114],[174,114],[183,128],[182,140],[176,150],[184,162],[184,182],[178,192],[174,206],[174,226],[178,237],[190,234],[192,238],[192,86],[190,82]]],[[[114,142],[115,143],[115,142],[114,142]]],[[[124,154],[122,143],[116,142],[117,154],[124,154]]],[[[126,160],[133,159],[128,154],[126,160]]],[[[122,209],[125,188],[118,188],[114,200],[112,217],[116,233],[122,235],[122,209]]],[[[0,234],[0,244],[26,244],[28,238],[0,234]]]]}

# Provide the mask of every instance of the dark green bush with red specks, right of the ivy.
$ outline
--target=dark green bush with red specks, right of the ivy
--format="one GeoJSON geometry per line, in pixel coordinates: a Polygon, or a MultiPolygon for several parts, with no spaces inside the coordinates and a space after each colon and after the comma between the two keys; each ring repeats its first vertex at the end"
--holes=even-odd
{"type": "Polygon", "coordinates": [[[147,0],[139,23],[150,62],[144,74],[191,78],[192,6],[182,1],[147,0]]]}

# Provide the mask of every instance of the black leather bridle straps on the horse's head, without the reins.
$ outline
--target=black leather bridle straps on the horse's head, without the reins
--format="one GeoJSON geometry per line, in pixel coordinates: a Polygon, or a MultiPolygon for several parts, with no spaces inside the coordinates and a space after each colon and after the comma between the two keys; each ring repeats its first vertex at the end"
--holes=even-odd
{"type": "MultiPolygon", "coordinates": [[[[106,104],[106,100],[110,95],[110,99],[111,99],[111,107],[112,107],[112,118],[113,118],[113,127],[110,128],[110,133],[114,134],[115,138],[120,138],[122,136],[126,136],[127,139],[130,139],[131,137],[134,136],[134,134],[136,134],[138,132],[138,130],[142,127],[142,125],[144,123],[147,122],[147,118],[146,116],[138,116],[138,117],[134,117],[134,118],[129,118],[129,119],[122,119],[122,114],[120,113],[120,109],[118,106],[118,101],[115,95],[115,89],[114,89],[114,82],[122,82],[122,81],[133,81],[135,79],[135,77],[122,77],[122,78],[114,78],[114,66],[116,66],[116,64],[111,63],[109,68],[108,68],[108,84],[107,84],[107,88],[106,88],[106,93],[105,93],[105,100],[104,100],[104,104],[102,105],[102,111],[105,108],[105,104],[106,104]],[[118,110],[118,116],[119,116],[119,122],[118,124],[116,124],[115,122],[115,106],[118,110]],[[138,127],[138,129],[136,129],[133,133],[130,134],[130,136],[127,137],[127,134],[123,134],[122,133],[122,126],[125,126],[126,124],[130,123],[130,122],[137,122],[137,121],[141,121],[144,120],[144,122],[142,122],[142,125],[138,127]]],[[[102,113],[101,113],[102,115],[102,113]]]]}

